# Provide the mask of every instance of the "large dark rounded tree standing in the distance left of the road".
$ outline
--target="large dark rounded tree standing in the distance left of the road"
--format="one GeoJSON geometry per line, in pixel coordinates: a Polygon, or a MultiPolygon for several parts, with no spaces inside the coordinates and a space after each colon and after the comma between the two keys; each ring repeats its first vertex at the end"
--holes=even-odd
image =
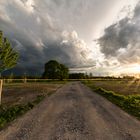
{"type": "Polygon", "coordinates": [[[63,80],[68,78],[68,73],[69,70],[65,65],[60,64],[55,60],[50,60],[45,64],[45,71],[42,77],[63,80]]]}

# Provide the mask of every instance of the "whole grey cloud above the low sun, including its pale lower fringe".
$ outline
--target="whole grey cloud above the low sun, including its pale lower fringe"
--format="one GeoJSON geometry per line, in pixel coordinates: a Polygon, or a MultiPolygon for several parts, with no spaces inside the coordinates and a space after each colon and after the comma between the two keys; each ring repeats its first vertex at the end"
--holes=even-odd
{"type": "Polygon", "coordinates": [[[119,62],[140,63],[140,3],[132,17],[125,17],[105,29],[98,39],[100,50],[109,59],[115,57],[119,62]]]}

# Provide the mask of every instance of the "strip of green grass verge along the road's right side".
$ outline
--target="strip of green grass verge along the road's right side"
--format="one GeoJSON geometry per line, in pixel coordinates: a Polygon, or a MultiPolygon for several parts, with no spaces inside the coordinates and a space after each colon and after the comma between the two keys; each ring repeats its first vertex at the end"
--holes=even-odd
{"type": "Polygon", "coordinates": [[[85,85],[90,87],[96,93],[99,93],[103,97],[107,98],[112,103],[119,106],[121,109],[127,113],[140,119],[140,95],[121,95],[114,91],[105,90],[102,87],[97,87],[91,81],[83,82],[85,85]]]}

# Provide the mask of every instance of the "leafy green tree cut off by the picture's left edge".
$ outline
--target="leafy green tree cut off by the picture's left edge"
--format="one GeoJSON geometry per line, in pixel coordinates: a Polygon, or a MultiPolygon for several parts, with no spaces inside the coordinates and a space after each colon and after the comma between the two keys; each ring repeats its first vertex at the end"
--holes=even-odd
{"type": "MultiPolygon", "coordinates": [[[[0,77],[3,71],[13,68],[17,64],[18,53],[11,47],[9,40],[0,31],[0,77]]],[[[3,80],[0,80],[0,104],[3,80]]]]}

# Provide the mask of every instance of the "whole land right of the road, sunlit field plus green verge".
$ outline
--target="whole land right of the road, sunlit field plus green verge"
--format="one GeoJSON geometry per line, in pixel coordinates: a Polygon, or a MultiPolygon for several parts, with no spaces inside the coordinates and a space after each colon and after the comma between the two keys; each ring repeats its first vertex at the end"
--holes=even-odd
{"type": "Polygon", "coordinates": [[[140,119],[140,81],[85,81],[94,92],[104,96],[124,111],[140,119]]]}

